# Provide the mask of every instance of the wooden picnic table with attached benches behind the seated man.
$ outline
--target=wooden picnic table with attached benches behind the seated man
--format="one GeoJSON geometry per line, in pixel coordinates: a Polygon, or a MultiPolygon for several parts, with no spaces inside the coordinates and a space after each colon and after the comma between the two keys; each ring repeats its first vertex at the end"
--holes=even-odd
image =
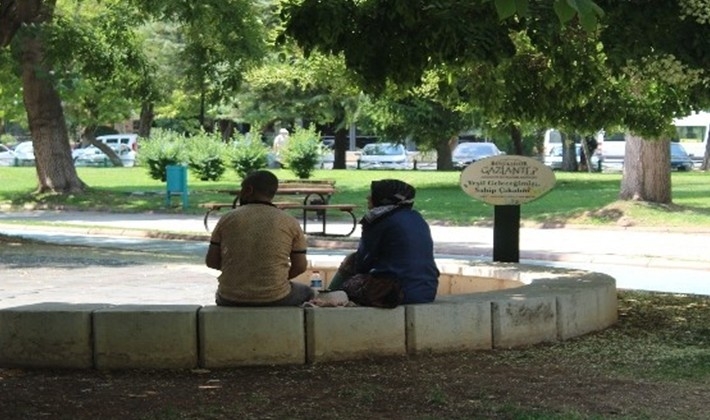
{"type": "MultiPolygon", "coordinates": [[[[218,190],[219,193],[228,194],[233,196],[234,199],[231,202],[209,202],[200,204],[200,207],[207,209],[205,217],[203,220],[205,230],[209,232],[209,217],[212,213],[220,211],[222,209],[234,209],[239,206],[239,194],[240,189],[229,189],[229,190],[218,190]]],[[[303,231],[307,234],[319,235],[319,236],[350,236],[355,232],[357,227],[357,218],[353,213],[353,210],[357,207],[354,204],[330,204],[330,198],[335,193],[335,182],[334,181],[320,181],[320,180],[293,180],[293,181],[280,181],[279,188],[276,191],[277,195],[303,195],[302,202],[294,201],[275,201],[273,205],[282,210],[301,210],[302,211],[302,224],[303,231]],[[345,234],[332,234],[327,233],[326,226],[328,222],[328,211],[337,210],[344,212],[350,216],[352,220],[352,228],[348,233],[345,234]],[[318,219],[322,222],[322,228],[320,232],[308,232],[308,215],[309,213],[316,213],[318,219]]]]}

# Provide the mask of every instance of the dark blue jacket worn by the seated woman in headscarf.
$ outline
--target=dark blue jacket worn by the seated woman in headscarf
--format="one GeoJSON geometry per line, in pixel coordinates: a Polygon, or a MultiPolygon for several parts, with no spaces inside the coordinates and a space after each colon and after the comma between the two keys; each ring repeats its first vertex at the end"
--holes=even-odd
{"type": "Polygon", "coordinates": [[[439,270],[429,225],[407,207],[363,223],[356,270],[396,278],[404,291],[403,303],[432,302],[439,270]]]}

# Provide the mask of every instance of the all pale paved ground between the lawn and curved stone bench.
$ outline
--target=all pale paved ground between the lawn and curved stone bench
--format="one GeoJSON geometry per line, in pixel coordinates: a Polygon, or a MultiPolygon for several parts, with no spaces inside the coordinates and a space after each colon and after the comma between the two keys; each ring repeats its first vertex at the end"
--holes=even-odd
{"type": "MultiPolygon", "coordinates": [[[[27,256],[16,263],[0,249],[0,308],[50,301],[213,302],[218,273],[202,263],[208,234],[199,215],[3,213],[0,233],[181,256],[175,262],[156,257],[156,261],[123,264],[106,251],[105,257],[90,264],[77,264],[81,255],[49,262],[46,257],[27,256]]],[[[432,234],[440,262],[491,260],[492,228],[432,226],[432,234]]],[[[310,238],[309,255],[339,261],[355,247],[359,235],[357,230],[347,240],[310,238]]],[[[710,294],[708,243],[707,232],[523,228],[520,255],[521,262],[605,272],[617,278],[621,288],[710,294]]]]}

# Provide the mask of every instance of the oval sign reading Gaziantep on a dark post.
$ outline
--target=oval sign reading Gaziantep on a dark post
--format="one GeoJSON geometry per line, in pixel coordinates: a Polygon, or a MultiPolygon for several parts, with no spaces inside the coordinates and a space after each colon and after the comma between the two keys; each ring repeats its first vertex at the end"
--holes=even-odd
{"type": "Polygon", "coordinates": [[[520,262],[520,205],[552,189],[552,169],[529,157],[493,156],[466,167],[460,183],[466,194],[495,206],[493,261],[520,262]]]}

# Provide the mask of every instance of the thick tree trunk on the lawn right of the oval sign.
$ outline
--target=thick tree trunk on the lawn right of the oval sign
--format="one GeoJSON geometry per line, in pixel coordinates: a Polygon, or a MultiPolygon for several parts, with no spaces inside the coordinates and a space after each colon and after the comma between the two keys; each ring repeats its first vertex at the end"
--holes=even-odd
{"type": "Polygon", "coordinates": [[[628,136],[619,199],[670,204],[670,153],[669,140],[646,141],[628,136]]]}

